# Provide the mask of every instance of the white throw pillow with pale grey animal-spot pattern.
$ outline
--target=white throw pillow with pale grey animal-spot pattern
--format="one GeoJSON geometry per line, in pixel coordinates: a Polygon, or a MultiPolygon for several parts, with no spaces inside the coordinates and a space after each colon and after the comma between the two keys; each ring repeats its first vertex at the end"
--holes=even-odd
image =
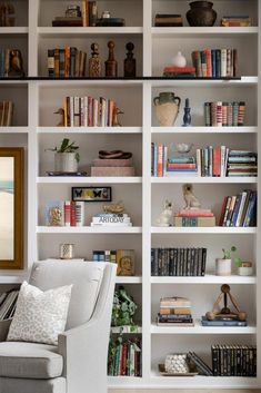
{"type": "Polygon", "coordinates": [[[8,341],[57,344],[64,332],[72,285],[42,292],[23,282],[8,341]]]}

